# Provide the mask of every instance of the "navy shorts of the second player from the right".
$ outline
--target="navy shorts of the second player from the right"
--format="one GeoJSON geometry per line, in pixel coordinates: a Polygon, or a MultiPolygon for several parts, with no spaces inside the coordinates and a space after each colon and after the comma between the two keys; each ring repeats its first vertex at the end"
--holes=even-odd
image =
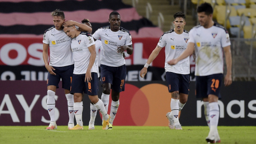
{"type": "Polygon", "coordinates": [[[189,74],[183,75],[166,71],[166,81],[169,92],[189,93],[189,74]]]}

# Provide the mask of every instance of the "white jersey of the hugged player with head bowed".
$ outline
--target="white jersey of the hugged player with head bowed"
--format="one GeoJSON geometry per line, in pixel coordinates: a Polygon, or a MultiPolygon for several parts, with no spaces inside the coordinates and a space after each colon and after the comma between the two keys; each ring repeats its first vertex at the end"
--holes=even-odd
{"type": "MultiPolygon", "coordinates": [[[[91,53],[88,47],[94,45],[95,42],[92,35],[81,32],[77,37],[72,38],[71,49],[75,61],[73,74],[85,74],[89,66],[91,53]]],[[[95,63],[93,63],[91,72],[97,73],[95,63]]]]}

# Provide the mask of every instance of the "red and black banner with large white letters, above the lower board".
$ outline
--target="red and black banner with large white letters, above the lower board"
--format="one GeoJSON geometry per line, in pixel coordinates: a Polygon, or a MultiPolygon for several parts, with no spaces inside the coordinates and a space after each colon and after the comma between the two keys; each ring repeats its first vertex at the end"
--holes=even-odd
{"type": "MultiPolygon", "coordinates": [[[[46,81],[47,70],[43,61],[43,38],[0,38],[0,79],[46,81]]],[[[140,78],[141,68],[155,49],[158,38],[133,38],[133,54],[126,54],[126,81],[165,81],[164,49],[148,68],[145,78],[140,78]]],[[[190,59],[191,79],[194,79],[195,62],[190,59]]]]}

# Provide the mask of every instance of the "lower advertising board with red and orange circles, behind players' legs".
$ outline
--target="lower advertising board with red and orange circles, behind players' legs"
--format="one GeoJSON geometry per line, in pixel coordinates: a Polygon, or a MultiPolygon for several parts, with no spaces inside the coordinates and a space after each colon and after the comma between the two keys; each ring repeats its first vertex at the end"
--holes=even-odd
{"type": "MultiPolygon", "coordinates": [[[[1,125],[49,124],[46,82],[0,81],[0,87],[1,125]]],[[[228,87],[222,86],[219,125],[256,126],[255,87],[255,82],[233,82],[228,87]]],[[[188,102],[181,111],[180,123],[206,126],[203,103],[195,98],[194,92],[195,82],[191,82],[188,102]]],[[[100,87],[99,97],[101,93],[100,87]]],[[[165,114],[170,111],[170,100],[171,95],[163,81],[127,82],[125,91],[121,93],[114,125],[167,126],[165,114]]],[[[57,124],[67,125],[68,108],[63,89],[57,89],[55,101],[57,124]]],[[[87,95],[84,95],[83,107],[83,122],[87,125],[90,121],[90,101],[87,95]]],[[[97,113],[95,125],[101,125],[99,112],[97,113]]]]}

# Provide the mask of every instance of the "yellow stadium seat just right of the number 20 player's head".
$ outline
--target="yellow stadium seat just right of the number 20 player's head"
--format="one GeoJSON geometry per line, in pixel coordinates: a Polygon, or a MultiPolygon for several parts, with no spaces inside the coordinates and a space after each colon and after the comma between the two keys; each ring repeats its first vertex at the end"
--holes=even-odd
{"type": "MultiPolygon", "coordinates": [[[[217,22],[220,23],[220,25],[224,26],[224,23],[225,23],[225,17],[226,17],[226,6],[225,5],[218,5],[218,6],[215,6],[216,7],[216,10],[217,10],[217,22]]],[[[230,11],[230,17],[233,17],[233,16],[236,16],[236,9],[235,7],[231,6],[231,11],[230,11]]],[[[227,20],[227,29],[230,28],[230,23],[229,23],[229,20],[227,20]]]]}

